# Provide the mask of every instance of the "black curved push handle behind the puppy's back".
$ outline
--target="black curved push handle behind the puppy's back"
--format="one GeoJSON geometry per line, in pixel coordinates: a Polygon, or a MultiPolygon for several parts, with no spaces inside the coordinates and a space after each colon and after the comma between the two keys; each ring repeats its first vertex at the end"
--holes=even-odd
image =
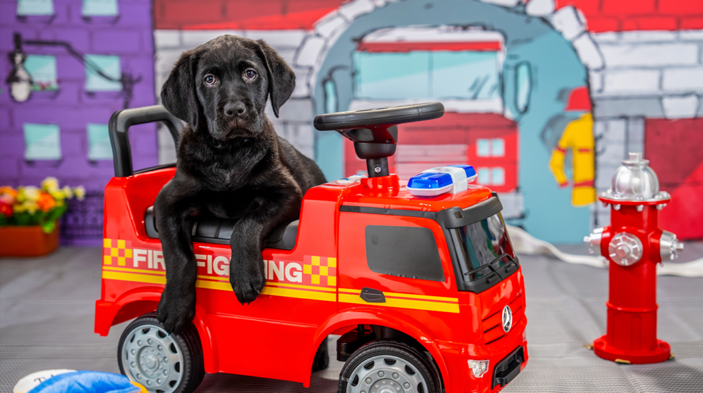
{"type": "Polygon", "coordinates": [[[118,110],[110,117],[110,143],[115,162],[115,177],[127,177],[134,174],[131,162],[131,148],[127,130],[135,124],[164,122],[174,138],[178,148],[179,138],[183,132],[183,124],[178,117],[172,115],[163,105],[145,106],[142,108],[118,110]]]}

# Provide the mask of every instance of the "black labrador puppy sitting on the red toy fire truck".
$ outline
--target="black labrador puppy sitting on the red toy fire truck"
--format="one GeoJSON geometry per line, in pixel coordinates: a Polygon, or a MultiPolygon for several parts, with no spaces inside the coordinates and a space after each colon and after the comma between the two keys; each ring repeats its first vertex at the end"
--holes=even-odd
{"type": "Polygon", "coordinates": [[[169,333],[195,316],[197,214],[236,219],[229,281],[240,303],[264,288],[264,239],[298,219],[308,188],[325,182],[313,160],[276,135],[264,115],[288,100],[295,74],[264,41],[224,35],[183,52],[161,91],[163,105],[188,122],[176,175],[154,204],[166,262],[157,309],[169,333]]]}

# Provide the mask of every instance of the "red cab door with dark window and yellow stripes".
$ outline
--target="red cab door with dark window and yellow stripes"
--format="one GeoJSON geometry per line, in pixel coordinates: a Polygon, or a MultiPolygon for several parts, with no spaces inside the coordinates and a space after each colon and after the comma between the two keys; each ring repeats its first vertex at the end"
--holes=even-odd
{"type": "Polygon", "coordinates": [[[435,337],[450,337],[449,321],[459,315],[458,293],[439,224],[421,217],[424,212],[340,210],[340,312],[382,311],[415,326],[432,320],[435,337]]]}

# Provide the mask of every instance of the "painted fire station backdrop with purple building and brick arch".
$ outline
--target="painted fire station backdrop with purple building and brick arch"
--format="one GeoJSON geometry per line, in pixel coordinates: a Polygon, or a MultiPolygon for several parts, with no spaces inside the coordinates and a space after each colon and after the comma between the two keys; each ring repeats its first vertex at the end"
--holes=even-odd
{"type": "MultiPolygon", "coordinates": [[[[401,178],[469,163],[478,183],[501,194],[512,224],[544,240],[576,243],[607,224],[608,211],[595,197],[610,186],[621,160],[644,152],[673,195],[662,226],[679,238],[703,238],[703,205],[696,203],[703,192],[701,1],[0,0],[0,6],[6,58],[19,32],[27,41],[65,41],[120,79],[95,77],[65,46],[23,45],[34,93],[17,103],[3,86],[0,183],[53,175],[92,186],[99,202],[112,173],[105,148],[110,112],[157,103],[182,51],[236,34],[265,39],[292,65],[295,92],[280,118],[269,117],[328,179],[364,166],[337,133],[314,131],[314,115],[441,101],[441,119],[400,127],[390,164],[401,178]]],[[[12,66],[0,62],[0,73],[10,74],[12,66]]],[[[144,127],[132,134],[135,167],[174,160],[167,131],[144,127]]],[[[66,225],[76,229],[65,241],[93,241],[79,229],[86,220],[97,225],[99,214],[87,210],[67,216],[73,221],[66,225]]]]}

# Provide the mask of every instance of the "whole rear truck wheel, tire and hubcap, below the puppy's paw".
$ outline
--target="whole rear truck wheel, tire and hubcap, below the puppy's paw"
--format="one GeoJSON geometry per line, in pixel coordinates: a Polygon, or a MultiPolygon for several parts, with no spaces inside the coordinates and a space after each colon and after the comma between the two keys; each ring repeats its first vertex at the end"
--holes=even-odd
{"type": "Polygon", "coordinates": [[[124,329],[117,359],[120,373],[152,393],[191,393],[205,375],[195,326],[169,335],[156,313],[144,314],[124,329]]]}

